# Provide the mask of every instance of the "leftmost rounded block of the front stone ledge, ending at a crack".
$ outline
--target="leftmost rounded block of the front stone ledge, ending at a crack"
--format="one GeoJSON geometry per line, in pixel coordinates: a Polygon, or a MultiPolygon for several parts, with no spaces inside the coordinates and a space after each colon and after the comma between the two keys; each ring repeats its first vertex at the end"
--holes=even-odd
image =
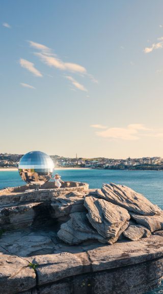
{"type": "Polygon", "coordinates": [[[15,294],[36,286],[36,275],[29,262],[9,255],[0,255],[0,294],[15,294]]]}

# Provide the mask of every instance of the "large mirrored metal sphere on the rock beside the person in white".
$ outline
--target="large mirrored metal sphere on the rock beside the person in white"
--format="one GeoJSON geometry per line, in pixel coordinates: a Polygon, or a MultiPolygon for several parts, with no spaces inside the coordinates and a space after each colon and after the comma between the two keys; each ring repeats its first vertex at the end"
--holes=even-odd
{"type": "Polygon", "coordinates": [[[54,164],[49,155],[41,151],[31,151],[21,157],[18,170],[21,178],[31,185],[43,185],[53,172],[54,164]]]}

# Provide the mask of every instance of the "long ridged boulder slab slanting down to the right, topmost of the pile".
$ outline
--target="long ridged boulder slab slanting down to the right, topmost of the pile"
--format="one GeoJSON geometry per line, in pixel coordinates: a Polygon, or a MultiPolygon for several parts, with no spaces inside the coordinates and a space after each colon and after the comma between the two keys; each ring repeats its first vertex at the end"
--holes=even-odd
{"type": "Polygon", "coordinates": [[[103,184],[101,190],[107,201],[111,201],[116,205],[124,207],[128,211],[142,215],[155,215],[161,213],[161,210],[156,205],[152,204],[146,197],[126,186],[113,183],[110,185],[103,184]]]}

